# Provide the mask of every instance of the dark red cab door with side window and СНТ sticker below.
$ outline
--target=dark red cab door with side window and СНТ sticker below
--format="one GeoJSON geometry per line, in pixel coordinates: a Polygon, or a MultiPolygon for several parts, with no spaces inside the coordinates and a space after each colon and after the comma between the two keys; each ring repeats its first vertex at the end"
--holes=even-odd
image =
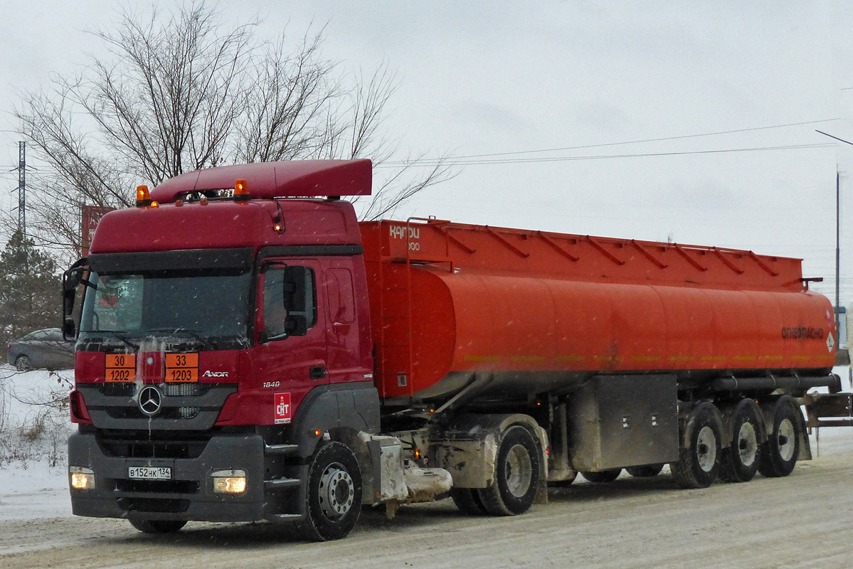
{"type": "Polygon", "coordinates": [[[305,394],[328,383],[320,275],[316,259],[270,259],[260,269],[253,360],[258,391],[270,394],[273,424],[292,422],[305,394]]]}

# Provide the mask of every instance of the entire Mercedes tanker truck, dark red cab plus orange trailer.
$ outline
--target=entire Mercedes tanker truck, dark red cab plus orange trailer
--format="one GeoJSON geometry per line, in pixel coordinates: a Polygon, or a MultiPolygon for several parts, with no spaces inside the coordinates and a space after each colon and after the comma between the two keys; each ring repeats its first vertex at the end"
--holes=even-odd
{"type": "Polygon", "coordinates": [[[358,223],[340,196],[370,190],[369,160],[232,165],[102,218],[64,279],[74,514],[334,539],[363,504],[522,514],[578,472],[785,476],[850,415],[798,259],[358,223]]]}

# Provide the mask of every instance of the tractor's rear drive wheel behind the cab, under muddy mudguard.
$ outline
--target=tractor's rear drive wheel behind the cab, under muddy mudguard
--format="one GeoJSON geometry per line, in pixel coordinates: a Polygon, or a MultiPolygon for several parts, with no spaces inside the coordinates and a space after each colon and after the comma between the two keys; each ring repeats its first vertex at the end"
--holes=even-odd
{"type": "Polygon", "coordinates": [[[509,427],[497,450],[495,480],[479,498],[492,515],[524,514],[533,505],[541,469],[536,439],[525,427],[509,427]]]}

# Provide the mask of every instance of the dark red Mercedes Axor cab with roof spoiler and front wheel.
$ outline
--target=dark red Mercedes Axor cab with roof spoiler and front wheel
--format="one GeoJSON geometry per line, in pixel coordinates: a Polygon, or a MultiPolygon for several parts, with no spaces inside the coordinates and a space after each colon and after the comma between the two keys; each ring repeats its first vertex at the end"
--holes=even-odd
{"type": "Polygon", "coordinates": [[[349,444],[378,432],[379,398],[363,247],[337,197],[368,194],[371,165],[235,168],[140,188],[66,274],[73,512],[142,531],[275,520],[339,537],[362,470],[376,494],[376,459],[349,444]]]}

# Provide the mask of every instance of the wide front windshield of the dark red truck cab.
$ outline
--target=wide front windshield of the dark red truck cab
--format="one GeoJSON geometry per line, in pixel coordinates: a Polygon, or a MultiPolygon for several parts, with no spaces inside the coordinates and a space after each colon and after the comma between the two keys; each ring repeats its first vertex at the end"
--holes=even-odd
{"type": "Polygon", "coordinates": [[[152,271],[92,273],[81,333],[123,336],[191,334],[202,340],[246,341],[249,272],[152,271]]]}

